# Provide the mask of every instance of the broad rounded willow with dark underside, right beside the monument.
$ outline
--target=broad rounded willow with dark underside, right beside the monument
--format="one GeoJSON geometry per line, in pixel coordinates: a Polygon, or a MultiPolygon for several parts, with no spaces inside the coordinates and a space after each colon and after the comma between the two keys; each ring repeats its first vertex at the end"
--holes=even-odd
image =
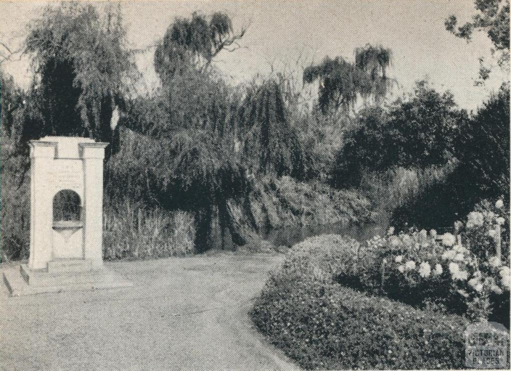
{"type": "Polygon", "coordinates": [[[210,130],[183,129],[172,137],[150,137],[128,132],[131,141],[107,163],[114,199],[129,197],[147,207],[181,209],[195,215],[196,251],[210,248],[212,227],[218,220],[236,245],[244,245],[228,201],[248,190],[245,167],[232,147],[210,130]],[[129,184],[120,189],[115,184],[129,184]],[[217,213],[218,219],[214,218],[217,213]]]}

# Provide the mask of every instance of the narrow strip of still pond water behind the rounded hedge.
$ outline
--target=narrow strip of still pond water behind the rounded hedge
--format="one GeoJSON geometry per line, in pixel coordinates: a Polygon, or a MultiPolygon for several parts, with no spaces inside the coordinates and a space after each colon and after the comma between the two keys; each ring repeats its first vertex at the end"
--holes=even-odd
{"type": "Polygon", "coordinates": [[[355,224],[353,222],[340,222],[328,225],[293,226],[272,229],[264,235],[275,246],[293,246],[312,236],[320,234],[340,234],[351,237],[361,243],[373,238],[376,234],[385,235],[388,230],[388,220],[379,220],[376,223],[355,224]]]}

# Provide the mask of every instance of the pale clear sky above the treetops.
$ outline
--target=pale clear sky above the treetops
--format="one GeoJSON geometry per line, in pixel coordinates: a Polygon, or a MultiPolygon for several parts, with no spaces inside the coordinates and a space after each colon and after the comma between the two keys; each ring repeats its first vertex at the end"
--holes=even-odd
{"type": "MultiPolygon", "coordinates": [[[[24,35],[27,22],[40,16],[49,2],[0,2],[0,40],[12,50],[24,35]]],[[[101,2],[96,2],[101,6],[101,2]]],[[[54,3],[55,4],[55,3],[54,3]]],[[[401,85],[400,94],[427,78],[439,91],[451,90],[458,105],[475,109],[507,79],[498,67],[484,87],[475,87],[479,57],[492,60],[491,42],[484,32],[467,43],[445,30],[444,20],[455,14],[460,21],[474,14],[473,0],[337,0],[337,1],[121,1],[133,48],[154,45],[176,17],[194,11],[225,11],[235,30],[248,26],[241,48],[221,52],[215,65],[233,84],[254,74],[298,70],[325,56],[353,61],[353,51],[366,43],[381,44],[393,52],[390,75],[401,85]]],[[[157,84],[154,48],[138,54],[136,62],[147,89],[157,84]]],[[[27,87],[29,62],[4,62],[4,70],[27,87]]],[[[300,77],[301,78],[301,77],[300,77]]]]}

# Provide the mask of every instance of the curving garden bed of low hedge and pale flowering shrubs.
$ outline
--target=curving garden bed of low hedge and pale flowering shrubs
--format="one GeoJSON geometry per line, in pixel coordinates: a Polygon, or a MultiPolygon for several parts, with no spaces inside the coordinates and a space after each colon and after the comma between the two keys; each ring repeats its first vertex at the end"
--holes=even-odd
{"type": "Polygon", "coordinates": [[[367,246],[339,235],[297,244],[252,319],[307,369],[461,368],[469,323],[509,326],[507,260],[477,253],[504,204],[485,207],[457,225],[471,250],[435,231],[390,231],[367,246]]]}

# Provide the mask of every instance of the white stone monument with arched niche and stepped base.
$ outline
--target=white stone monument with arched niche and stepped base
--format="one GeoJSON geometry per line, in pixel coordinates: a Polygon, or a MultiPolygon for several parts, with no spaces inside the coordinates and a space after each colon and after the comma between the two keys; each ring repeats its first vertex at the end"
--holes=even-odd
{"type": "Polygon", "coordinates": [[[103,158],[108,143],[30,142],[30,255],[4,272],[11,295],[129,286],[103,267],[103,158]]]}

